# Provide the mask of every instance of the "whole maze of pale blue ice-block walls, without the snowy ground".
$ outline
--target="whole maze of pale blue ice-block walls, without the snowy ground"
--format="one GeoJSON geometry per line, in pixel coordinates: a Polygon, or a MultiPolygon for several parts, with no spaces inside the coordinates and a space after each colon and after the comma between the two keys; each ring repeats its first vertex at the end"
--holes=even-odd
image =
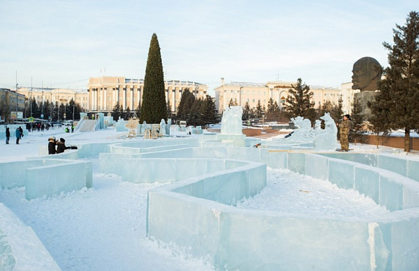
{"type": "MultiPolygon", "coordinates": [[[[240,140],[235,144],[206,135],[86,144],[64,153],[61,162],[41,157],[24,167],[37,170],[38,179],[56,165],[68,165],[61,174],[69,175],[79,167],[84,169],[78,177],[82,180],[70,188],[80,189],[94,184],[91,164],[78,158],[98,156],[101,173],[133,183],[164,183],[149,190],[147,237],[189,257],[205,258],[215,270],[418,270],[418,160],[316,152],[311,144],[274,141],[252,148],[255,139],[240,140]],[[237,201],[265,187],[267,167],[356,189],[390,212],[369,221],[235,208],[237,201]]],[[[0,177],[10,167],[4,164],[0,177]]],[[[29,188],[37,178],[1,180],[6,188],[21,185],[41,194],[56,193],[41,182],[41,187],[29,188]]],[[[10,258],[13,246],[10,241],[8,245],[10,258]]]]}

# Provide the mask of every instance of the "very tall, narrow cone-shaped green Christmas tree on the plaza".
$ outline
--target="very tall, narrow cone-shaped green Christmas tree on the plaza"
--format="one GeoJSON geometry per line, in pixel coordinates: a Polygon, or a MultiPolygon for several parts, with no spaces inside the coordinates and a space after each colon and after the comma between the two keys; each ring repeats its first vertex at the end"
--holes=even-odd
{"type": "Polygon", "coordinates": [[[147,123],[160,123],[162,118],[165,121],[168,120],[168,111],[164,90],[160,45],[156,33],[153,33],[145,68],[144,95],[142,95],[140,123],[143,121],[147,123]]]}

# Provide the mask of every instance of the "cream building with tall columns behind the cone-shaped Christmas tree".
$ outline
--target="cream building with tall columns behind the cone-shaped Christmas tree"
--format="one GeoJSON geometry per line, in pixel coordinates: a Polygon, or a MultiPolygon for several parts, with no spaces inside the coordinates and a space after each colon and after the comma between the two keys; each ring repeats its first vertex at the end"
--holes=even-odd
{"type": "MultiPolygon", "coordinates": [[[[170,101],[172,112],[175,112],[179,104],[182,92],[189,88],[189,91],[196,98],[205,98],[207,86],[196,82],[171,80],[165,81],[166,102],[170,101]]],[[[144,91],[143,79],[127,79],[125,77],[103,76],[90,77],[88,85],[88,111],[110,112],[115,104],[119,102],[126,110],[131,111],[142,102],[144,91]]]]}

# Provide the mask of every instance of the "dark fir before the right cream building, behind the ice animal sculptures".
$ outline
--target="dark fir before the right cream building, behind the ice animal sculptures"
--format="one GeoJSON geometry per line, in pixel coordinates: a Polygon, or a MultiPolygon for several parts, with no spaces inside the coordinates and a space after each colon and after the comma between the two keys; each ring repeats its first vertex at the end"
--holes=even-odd
{"type": "Polygon", "coordinates": [[[316,119],[316,109],[314,109],[313,92],[306,84],[302,84],[301,78],[297,79],[296,85],[291,85],[286,98],[285,115],[288,118],[295,118],[302,116],[309,118],[311,122],[316,119]]]}

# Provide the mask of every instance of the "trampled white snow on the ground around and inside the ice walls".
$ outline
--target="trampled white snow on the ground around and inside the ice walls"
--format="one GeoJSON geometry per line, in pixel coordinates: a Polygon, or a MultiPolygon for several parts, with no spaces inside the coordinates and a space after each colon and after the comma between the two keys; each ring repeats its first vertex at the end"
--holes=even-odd
{"type": "MultiPolygon", "coordinates": [[[[31,132],[19,145],[14,138],[9,145],[1,142],[0,161],[38,156],[39,146],[46,146],[51,135],[57,139],[64,137],[69,146],[120,140],[118,136],[122,134],[112,127],[73,134],[62,129],[31,132]]],[[[375,146],[359,144],[351,148],[393,152],[391,148],[377,150],[375,146]]],[[[62,270],[213,270],[205,261],[175,254],[146,238],[147,191],[158,184],[122,182],[118,176],[98,173],[98,159],[91,161],[94,169],[91,189],[31,201],[24,199],[22,187],[0,189],[0,202],[34,229],[62,270]]],[[[237,208],[336,217],[375,217],[388,212],[358,192],[288,170],[268,169],[267,177],[267,187],[253,199],[239,203],[237,208]]],[[[25,240],[20,242],[24,244],[25,240]]],[[[31,261],[36,259],[16,258],[14,270],[30,270],[31,261]]]]}

